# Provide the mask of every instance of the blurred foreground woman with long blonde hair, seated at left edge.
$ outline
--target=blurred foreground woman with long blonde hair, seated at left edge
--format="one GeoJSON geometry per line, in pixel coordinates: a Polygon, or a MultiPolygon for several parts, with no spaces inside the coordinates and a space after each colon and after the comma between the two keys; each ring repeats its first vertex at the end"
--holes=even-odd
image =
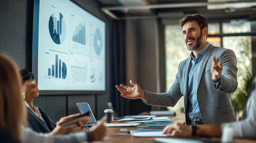
{"type": "Polygon", "coordinates": [[[7,129],[18,142],[85,142],[100,141],[106,135],[103,125],[106,117],[92,126],[90,132],[82,131],[68,135],[69,129],[61,126],[63,118],[51,133],[36,133],[26,128],[27,113],[21,94],[21,78],[16,64],[0,54],[0,130],[7,129]]]}

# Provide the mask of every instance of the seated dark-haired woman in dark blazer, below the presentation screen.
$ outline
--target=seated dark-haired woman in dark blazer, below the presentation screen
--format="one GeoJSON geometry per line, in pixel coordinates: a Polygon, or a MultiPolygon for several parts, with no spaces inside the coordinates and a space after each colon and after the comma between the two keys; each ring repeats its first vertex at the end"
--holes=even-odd
{"type": "Polygon", "coordinates": [[[35,75],[29,70],[23,69],[20,71],[22,76],[23,94],[25,104],[28,111],[27,126],[36,132],[48,133],[55,128],[55,123],[45,113],[42,108],[33,105],[33,100],[39,96],[38,86],[35,83],[35,75]]]}

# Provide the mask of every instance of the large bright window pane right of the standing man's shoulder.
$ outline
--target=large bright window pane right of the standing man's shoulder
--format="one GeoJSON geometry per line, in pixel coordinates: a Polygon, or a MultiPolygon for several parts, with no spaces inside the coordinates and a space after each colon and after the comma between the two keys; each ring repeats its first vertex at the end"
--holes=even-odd
{"type": "Polygon", "coordinates": [[[232,49],[238,60],[238,87],[243,85],[247,70],[252,72],[251,36],[223,37],[223,47],[232,49]]]}

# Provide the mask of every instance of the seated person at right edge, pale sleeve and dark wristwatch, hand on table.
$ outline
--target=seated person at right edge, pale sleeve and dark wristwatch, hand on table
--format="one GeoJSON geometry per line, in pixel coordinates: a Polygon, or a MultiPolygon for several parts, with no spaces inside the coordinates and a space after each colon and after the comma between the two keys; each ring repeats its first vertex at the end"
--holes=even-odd
{"type": "Polygon", "coordinates": [[[163,133],[171,136],[221,136],[225,127],[233,128],[234,138],[256,139],[256,78],[251,88],[251,94],[246,102],[246,108],[239,122],[222,123],[221,125],[189,126],[180,123],[166,126],[163,133]]]}

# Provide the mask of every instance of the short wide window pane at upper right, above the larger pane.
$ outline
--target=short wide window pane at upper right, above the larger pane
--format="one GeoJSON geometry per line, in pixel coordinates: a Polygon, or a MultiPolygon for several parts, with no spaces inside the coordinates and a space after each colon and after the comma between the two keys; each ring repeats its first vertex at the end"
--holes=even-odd
{"type": "Polygon", "coordinates": [[[230,23],[223,23],[222,26],[224,34],[251,32],[251,24],[249,21],[232,20],[230,23]]]}

